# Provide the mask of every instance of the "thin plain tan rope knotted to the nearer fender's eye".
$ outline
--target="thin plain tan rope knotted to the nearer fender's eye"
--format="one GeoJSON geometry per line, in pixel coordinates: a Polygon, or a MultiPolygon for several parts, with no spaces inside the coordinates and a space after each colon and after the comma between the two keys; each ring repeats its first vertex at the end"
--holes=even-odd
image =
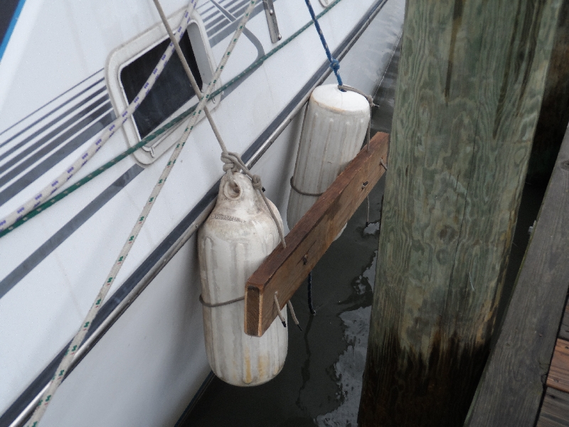
{"type": "MultiPolygon", "coordinates": [[[[174,44],[174,48],[176,49],[176,53],[178,54],[178,57],[180,58],[182,66],[184,67],[184,71],[186,72],[186,75],[188,76],[188,79],[190,80],[190,84],[193,88],[193,91],[196,93],[196,95],[198,95],[198,97],[201,97],[201,90],[198,86],[198,83],[196,82],[196,78],[193,77],[193,73],[191,72],[190,65],[188,65],[188,61],[186,60],[186,56],[184,56],[184,53],[182,52],[182,50],[180,48],[180,44],[176,40],[176,37],[174,36],[172,29],[170,28],[170,24],[168,23],[168,20],[166,19],[166,15],[164,14],[164,11],[162,10],[162,6],[160,5],[160,1],[154,0],[154,5],[156,6],[156,9],[158,10],[158,14],[160,15],[162,23],[164,23],[164,26],[166,27],[166,31],[168,32],[168,35],[170,36],[171,43],[174,44]]],[[[263,191],[263,186],[262,186],[262,182],[261,182],[261,177],[259,175],[255,175],[255,174],[252,174],[250,172],[250,170],[245,165],[245,163],[241,159],[241,156],[238,153],[228,152],[227,146],[225,145],[225,142],[223,142],[223,138],[221,137],[221,134],[220,134],[219,129],[216,125],[216,122],[213,121],[213,117],[211,116],[211,113],[209,112],[207,105],[203,106],[203,112],[206,113],[206,117],[208,118],[208,122],[211,125],[211,129],[213,130],[213,134],[216,135],[216,139],[217,139],[218,144],[221,148],[221,161],[223,162],[223,172],[225,172],[227,174],[227,177],[228,177],[230,184],[232,184],[233,187],[235,187],[237,185],[237,184],[235,184],[235,181],[233,180],[233,172],[239,172],[240,169],[242,169],[243,172],[247,176],[249,176],[249,178],[252,181],[253,188],[259,192],[259,194],[262,196],[263,201],[265,201],[265,205],[267,206],[267,209],[270,213],[272,221],[275,221],[275,226],[277,226],[277,230],[279,231],[279,237],[280,237],[280,241],[282,243],[282,246],[283,246],[283,248],[286,248],[287,243],[285,242],[285,231],[282,229],[282,225],[277,220],[277,217],[275,216],[275,212],[272,211],[271,206],[269,204],[269,200],[267,199],[267,196],[265,196],[265,192],[263,191]]]]}

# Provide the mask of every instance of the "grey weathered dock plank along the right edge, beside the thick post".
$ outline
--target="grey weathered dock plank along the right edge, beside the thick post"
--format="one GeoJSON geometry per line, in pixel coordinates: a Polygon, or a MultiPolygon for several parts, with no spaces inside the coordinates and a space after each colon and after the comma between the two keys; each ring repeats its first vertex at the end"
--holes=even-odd
{"type": "Polygon", "coordinates": [[[533,426],[569,284],[569,130],[466,426],[533,426]]]}

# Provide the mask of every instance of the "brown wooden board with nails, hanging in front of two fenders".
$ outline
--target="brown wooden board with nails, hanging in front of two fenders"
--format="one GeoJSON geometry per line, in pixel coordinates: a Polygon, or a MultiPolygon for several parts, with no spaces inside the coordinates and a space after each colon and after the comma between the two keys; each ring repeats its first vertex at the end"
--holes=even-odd
{"type": "Polygon", "coordinates": [[[285,307],[361,202],[383,176],[389,135],[378,132],[322,194],[245,285],[245,333],[260,337],[285,307]]]}

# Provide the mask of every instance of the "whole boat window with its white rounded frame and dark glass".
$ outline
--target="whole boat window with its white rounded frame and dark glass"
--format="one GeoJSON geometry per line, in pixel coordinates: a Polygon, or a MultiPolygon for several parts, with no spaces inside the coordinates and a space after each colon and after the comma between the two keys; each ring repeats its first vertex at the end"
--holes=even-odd
{"type": "MultiPolygon", "coordinates": [[[[186,8],[183,8],[172,14],[168,18],[170,25],[177,28],[185,11],[186,8]]],[[[105,67],[105,81],[117,116],[121,115],[137,96],[169,44],[170,38],[166,28],[159,21],[109,53],[105,67]]],[[[193,11],[191,15],[186,33],[181,38],[180,47],[196,78],[196,83],[201,90],[204,90],[216,69],[216,61],[213,58],[206,27],[197,11],[193,11]]],[[[220,85],[219,81],[216,82],[213,90],[218,89],[220,85]]],[[[219,105],[220,97],[221,95],[217,95],[209,100],[210,110],[219,105]]],[[[134,115],[122,125],[121,133],[129,147],[134,147],[144,137],[151,135],[197,103],[198,97],[193,92],[178,54],[174,52],[147,97],[134,111],[134,115]]],[[[203,120],[203,115],[200,115],[198,120],[203,120]]],[[[169,127],[132,155],[140,164],[151,164],[183,135],[185,127],[182,125],[185,122],[182,120],[169,127]]]]}

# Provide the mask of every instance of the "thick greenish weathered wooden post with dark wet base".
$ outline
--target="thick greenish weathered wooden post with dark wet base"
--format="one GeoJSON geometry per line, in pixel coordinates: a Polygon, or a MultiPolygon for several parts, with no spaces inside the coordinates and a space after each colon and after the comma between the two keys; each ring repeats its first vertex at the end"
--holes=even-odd
{"type": "Polygon", "coordinates": [[[408,0],[358,421],[462,426],[560,0],[408,0]]]}

